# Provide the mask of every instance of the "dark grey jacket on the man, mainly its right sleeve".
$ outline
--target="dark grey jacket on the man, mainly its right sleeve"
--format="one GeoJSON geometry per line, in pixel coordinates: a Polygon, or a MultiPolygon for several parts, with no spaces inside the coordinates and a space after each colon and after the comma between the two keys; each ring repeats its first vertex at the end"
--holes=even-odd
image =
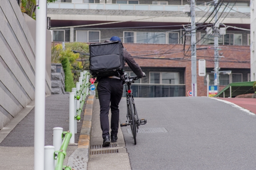
{"type": "MultiPolygon", "coordinates": [[[[106,40],[104,43],[109,43],[111,41],[106,40]]],[[[128,66],[131,68],[131,70],[138,76],[139,78],[142,78],[144,76],[140,66],[135,62],[135,60],[132,58],[132,55],[124,48],[124,60],[128,64],[128,66]]]]}

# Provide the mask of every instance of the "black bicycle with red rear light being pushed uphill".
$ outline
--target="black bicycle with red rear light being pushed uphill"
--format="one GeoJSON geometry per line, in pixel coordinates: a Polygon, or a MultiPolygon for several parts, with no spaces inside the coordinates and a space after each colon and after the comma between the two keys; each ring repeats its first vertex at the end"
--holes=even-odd
{"type": "MultiPolygon", "coordinates": [[[[145,77],[146,74],[143,76],[145,77]]],[[[136,135],[138,133],[138,129],[140,125],[145,125],[147,123],[146,119],[139,119],[138,112],[134,103],[134,98],[132,95],[131,86],[132,83],[134,83],[134,80],[138,80],[139,78],[137,76],[127,76],[127,74],[124,74],[124,84],[128,86],[128,90],[126,89],[126,103],[127,103],[127,121],[126,123],[121,123],[120,126],[124,127],[127,125],[131,126],[132,136],[134,138],[134,144],[136,145],[136,135]]],[[[126,86],[125,86],[126,88],[126,86]]]]}

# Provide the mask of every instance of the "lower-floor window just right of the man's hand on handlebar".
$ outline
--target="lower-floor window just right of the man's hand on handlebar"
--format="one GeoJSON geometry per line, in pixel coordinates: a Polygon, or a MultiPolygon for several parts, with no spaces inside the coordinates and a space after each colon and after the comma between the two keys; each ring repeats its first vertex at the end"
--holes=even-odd
{"type": "Polygon", "coordinates": [[[179,84],[179,73],[150,72],[150,84],[179,84]]]}

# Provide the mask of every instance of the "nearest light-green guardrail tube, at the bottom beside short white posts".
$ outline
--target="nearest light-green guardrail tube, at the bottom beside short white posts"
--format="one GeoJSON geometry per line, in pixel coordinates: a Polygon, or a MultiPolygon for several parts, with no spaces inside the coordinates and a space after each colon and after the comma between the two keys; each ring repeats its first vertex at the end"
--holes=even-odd
{"type": "Polygon", "coordinates": [[[55,170],[62,170],[62,168],[64,168],[64,170],[71,170],[70,166],[63,166],[63,161],[67,155],[66,150],[68,148],[68,143],[70,141],[70,138],[72,137],[72,133],[70,131],[66,131],[66,132],[63,132],[62,134],[64,135],[64,138],[63,138],[63,142],[60,147],[60,150],[54,152],[54,154],[58,153],[56,158],[57,161],[56,161],[55,170]]]}

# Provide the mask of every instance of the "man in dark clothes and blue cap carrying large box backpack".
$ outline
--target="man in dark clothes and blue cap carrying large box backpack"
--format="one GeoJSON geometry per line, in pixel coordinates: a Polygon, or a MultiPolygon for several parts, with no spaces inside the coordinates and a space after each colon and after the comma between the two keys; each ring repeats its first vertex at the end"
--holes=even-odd
{"type": "Polygon", "coordinates": [[[124,64],[142,78],[145,73],[134,61],[130,53],[123,48],[119,37],[112,37],[104,43],[90,45],[90,72],[98,81],[98,98],[100,102],[100,127],[102,129],[103,147],[117,141],[119,109],[123,94],[124,64]],[[111,109],[111,137],[109,134],[108,113],[111,109]]]}

